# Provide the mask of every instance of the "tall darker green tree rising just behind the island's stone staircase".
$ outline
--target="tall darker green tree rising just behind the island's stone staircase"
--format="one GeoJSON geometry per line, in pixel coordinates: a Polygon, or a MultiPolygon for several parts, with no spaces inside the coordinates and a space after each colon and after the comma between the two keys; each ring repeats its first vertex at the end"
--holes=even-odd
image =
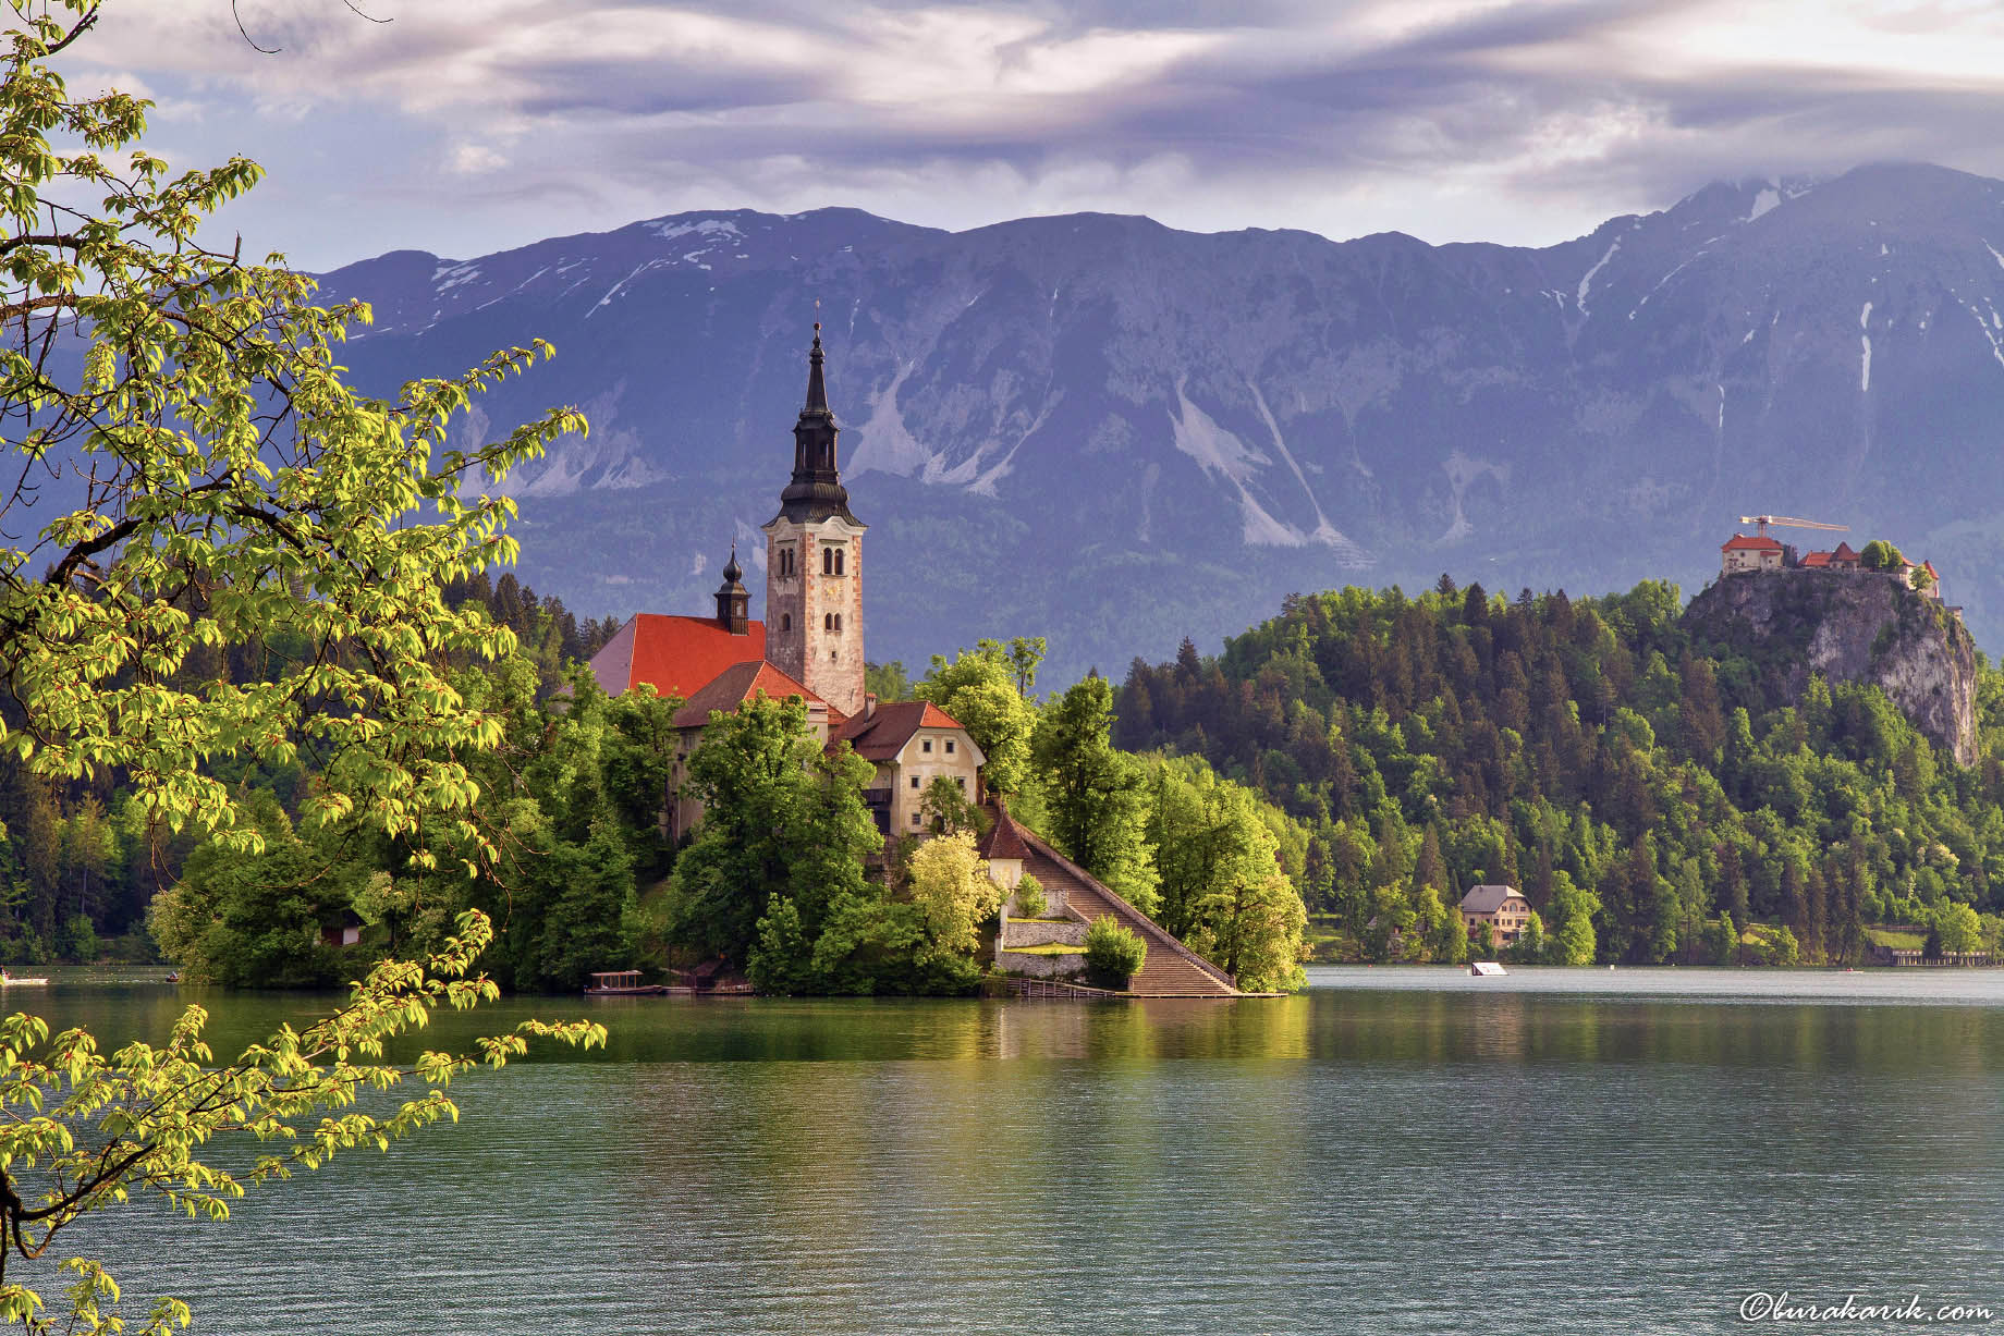
{"type": "Polygon", "coordinates": [[[1112,745],[1112,687],[1090,675],[1036,723],[1034,759],[1050,803],[1050,837],[1066,857],[1156,909],[1154,849],[1146,841],[1140,761],[1112,745]]]}

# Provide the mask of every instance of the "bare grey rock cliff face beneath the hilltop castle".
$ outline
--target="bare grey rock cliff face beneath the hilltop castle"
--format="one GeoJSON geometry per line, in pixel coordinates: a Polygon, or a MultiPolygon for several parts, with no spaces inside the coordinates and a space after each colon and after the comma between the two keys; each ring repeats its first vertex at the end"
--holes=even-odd
{"type": "Polygon", "coordinates": [[[1976,761],[1976,645],[1940,603],[1890,575],[1725,575],[1691,599],[1683,625],[1751,657],[1790,701],[1812,675],[1872,683],[1958,765],[1976,761]]]}

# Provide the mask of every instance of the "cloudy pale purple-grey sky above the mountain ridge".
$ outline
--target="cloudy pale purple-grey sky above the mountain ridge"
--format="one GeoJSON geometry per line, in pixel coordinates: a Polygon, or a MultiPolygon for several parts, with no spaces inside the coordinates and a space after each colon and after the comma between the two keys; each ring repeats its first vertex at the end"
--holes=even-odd
{"type": "Polygon", "coordinates": [[[1711,180],[2004,176],[1996,0],[108,0],[224,222],[325,270],[697,208],[1553,244],[1711,180]],[[263,50],[261,50],[263,48],[263,50]]]}

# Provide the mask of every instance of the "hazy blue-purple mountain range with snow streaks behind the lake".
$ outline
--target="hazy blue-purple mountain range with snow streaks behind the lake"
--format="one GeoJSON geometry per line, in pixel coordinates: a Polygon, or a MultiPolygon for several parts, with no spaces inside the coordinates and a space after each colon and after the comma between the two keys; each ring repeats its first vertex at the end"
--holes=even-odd
{"type": "Polygon", "coordinates": [[[866,539],[872,659],[1046,635],[1046,685],[1291,591],[1671,579],[1741,515],[1884,537],[2004,635],[2004,182],[1936,166],[1711,184],[1555,246],[850,208],[691,212],[323,276],[391,391],[541,337],[469,433],[575,403],[511,481],[521,579],[703,611],[792,467],[810,324],[866,539]]]}

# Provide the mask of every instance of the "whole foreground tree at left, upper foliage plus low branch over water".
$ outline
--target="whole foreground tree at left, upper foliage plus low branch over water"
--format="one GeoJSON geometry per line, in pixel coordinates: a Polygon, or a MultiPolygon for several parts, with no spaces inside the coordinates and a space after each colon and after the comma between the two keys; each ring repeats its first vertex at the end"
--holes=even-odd
{"type": "MultiPolygon", "coordinates": [[[[136,146],[146,102],[68,94],[50,58],[96,16],[92,0],[16,4],[0,38],[0,433],[14,455],[0,751],[42,779],[114,775],[154,821],[244,855],[267,833],[218,767],[305,755],[311,825],[365,823],[421,865],[437,861],[435,837],[489,855],[467,757],[493,745],[495,723],[447,671],[513,637],[441,589],[513,557],[513,503],[493,485],[585,423],[557,411],[447,449],[471,437],[473,393],[545,357],[539,343],[393,401],[349,389],[337,349],[367,308],[321,310],[279,256],[248,264],[200,240],[257,164],[170,174],[136,146]],[[222,651],[273,671],[192,671],[222,651]]],[[[531,1036],[603,1042],[599,1026],[525,1022],[469,1054],[383,1064],[383,1042],[431,1010],[495,995],[473,973],[489,935],[467,913],[429,959],[385,961],[333,1016],[222,1062],[200,1008],[164,1048],[112,1056],[82,1030],[50,1040],[34,1018],[0,1022],[0,1266],[136,1198],[222,1218],[250,1184],[453,1116],[451,1078],[501,1066],[531,1036]],[[409,1080],[431,1090],[353,1110],[409,1080]],[[210,1146],[222,1156],[200,1160],[210,1146]]],[[[90,1258],[64,1268],[68,1314],[16,1272],[0,1276],[0,1320],[104,1330],[116,1282],[90,1258]]],[[[148,1330],[186,1322],[162,1298],[148,1330]]]]}

